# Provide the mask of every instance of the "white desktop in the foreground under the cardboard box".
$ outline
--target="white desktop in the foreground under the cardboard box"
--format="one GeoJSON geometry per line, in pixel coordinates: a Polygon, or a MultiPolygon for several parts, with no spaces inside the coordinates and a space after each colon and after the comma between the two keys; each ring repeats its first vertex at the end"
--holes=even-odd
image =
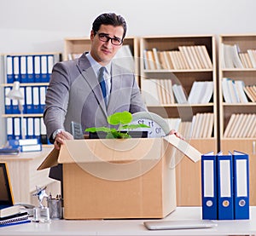
{"type": "MultiPolygon", "coordinates": [[[[140,220],[56,220],[51,223],[27,223],[2,227],[0,235],[26,236],[82,236],[82,235],[256,235],[256,207],[251,207],[251,220],[216,221],[217,227],[207,229],[183,229],[149,231],[140,220]]],[[[177,207],[164,220],[201,219],[201,207],[177,207]]],[[[147,219],[148,221],[148,219],[147,219]]]]}

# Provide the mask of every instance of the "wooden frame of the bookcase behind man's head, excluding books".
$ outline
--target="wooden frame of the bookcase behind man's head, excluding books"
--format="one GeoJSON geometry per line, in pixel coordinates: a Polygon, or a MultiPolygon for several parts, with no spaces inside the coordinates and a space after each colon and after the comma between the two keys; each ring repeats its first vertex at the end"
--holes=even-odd
{"type": "MultiPolygon", "coordinates": [[[[91,43],[90,37],[65,38],[63,60],[69,60],[71,58],[78,57],[84,52],[89,52],[90,43],[91,43]],[[74,55],[74,57],[72,55],[74,55]]],[[[125,37],[122,48],[125,48],[124,46],[129,46],[131,50],[131,55],[133,56],[133,60],[134,60],[134,66],[132,70],[134,71],[134,74],[137,79],[137,83],[139,84],[139,44],[138,43],[139,43],[139,40],[137,37],[125,37]]]]}

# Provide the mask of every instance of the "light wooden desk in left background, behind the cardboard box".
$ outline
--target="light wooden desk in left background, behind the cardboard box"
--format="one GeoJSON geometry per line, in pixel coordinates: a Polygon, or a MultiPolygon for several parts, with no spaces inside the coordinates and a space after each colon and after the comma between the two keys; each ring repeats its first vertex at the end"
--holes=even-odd
{"type": "MultiPolygon", "coordinates": [[[[38,187],[50,184],[59,184],[50,179],[48,170],[37,170],[53,147],[43,147],[42,152],[19,153],[18,155],[1,155],[0,162],[6,162],[9,169],[10,181],[13,189],[15,203],[32,204],[32,193],[38,187]]],[[[60,192],[60,187],[58,188],[60,192]]],[[[47,189],[49,193],[49,189],[47,189]]],[[[36,203],[36,199],[34,200],[36,203]]]]}

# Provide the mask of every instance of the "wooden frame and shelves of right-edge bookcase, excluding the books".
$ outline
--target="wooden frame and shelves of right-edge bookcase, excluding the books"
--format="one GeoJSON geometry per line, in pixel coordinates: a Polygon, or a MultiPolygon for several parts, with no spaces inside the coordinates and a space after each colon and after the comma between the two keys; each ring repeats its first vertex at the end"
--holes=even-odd
{"type": "Polygon", "coordinates": [[[226,128],[229,124],[232,114],[256,114],[256,102],[234,102],[229,103],[224,100],[223,95],[223,78],[230,78],[233,81],[242,81],[247,85],[256,85],[256,68],[240,68],[233,66],[224,66],[223,43],[226,45],[238,45],[240,53],[247,53],[247,49],[256,49],[256,35],[220,35],[219,36],[219,127],[220,127],[220,149],[224,153],[234,150],[247,153],[249,155],[250,166],[250,205],[256,204],[256,136],[239,137],[246,128],[255,129],[255,124],[247,127],[247,122],[241,122],[241,130],[235,130],[233,135],[226,135],[226,128]],[[235,133],[235,135],[234,135],[235,133]]]}

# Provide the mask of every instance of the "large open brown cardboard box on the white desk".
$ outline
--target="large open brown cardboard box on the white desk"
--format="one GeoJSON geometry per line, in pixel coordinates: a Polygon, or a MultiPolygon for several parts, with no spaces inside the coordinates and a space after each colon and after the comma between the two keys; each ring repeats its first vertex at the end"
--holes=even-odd
{"type": "Polygon", "coordinates": [[[175,135],[73,140],[49,153],[38,170],[63,164],[65,219],[163,218],[176,209],[177,149],[201,159],[175,135]]]}

